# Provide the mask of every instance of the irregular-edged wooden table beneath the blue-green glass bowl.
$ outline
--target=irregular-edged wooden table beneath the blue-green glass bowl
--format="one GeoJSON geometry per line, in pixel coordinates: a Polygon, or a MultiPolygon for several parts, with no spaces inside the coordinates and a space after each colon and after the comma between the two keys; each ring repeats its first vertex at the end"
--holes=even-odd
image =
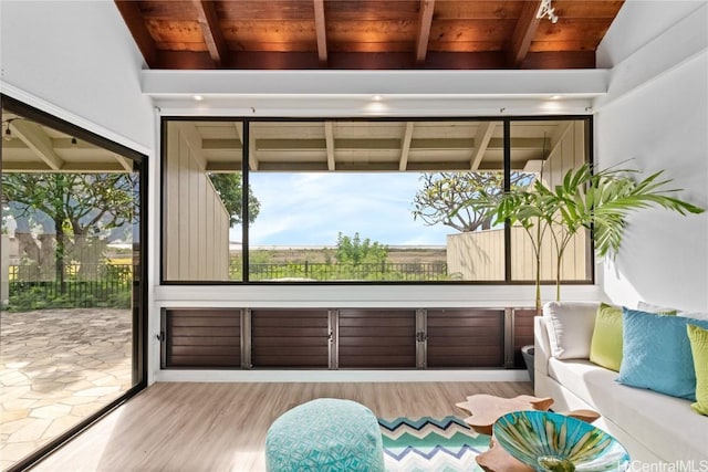
{"type": "MultiPolygon", "coordinates": [[[[548,411],[553,405],[552,398],[538,398],[520,395],[514,398],[502,398],[493,395],[480,394],[467,397],[467,401],[456,403],[457,407],[469,411],[465,422],[480,434],[492,436],[492,426],[502,416],[522,410],[548,411]]],[[[574,410],[561,412],[569,417],[593,422],[600,415],[592,410],[574,410]]],[[[477,463],[487,472],[533,472],[533,469],[511,457],[497,443],[492,436],[489,450],[477,457],[477,463]]]]}

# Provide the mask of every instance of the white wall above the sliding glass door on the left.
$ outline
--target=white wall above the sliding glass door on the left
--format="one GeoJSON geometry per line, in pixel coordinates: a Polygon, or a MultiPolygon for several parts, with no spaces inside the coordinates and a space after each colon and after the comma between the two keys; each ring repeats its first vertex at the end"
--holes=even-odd
{"type": "Polygon", "coordinates": [[[0,1],[2,92],[142,153],[143,59],[112,1],[0,1]]]}

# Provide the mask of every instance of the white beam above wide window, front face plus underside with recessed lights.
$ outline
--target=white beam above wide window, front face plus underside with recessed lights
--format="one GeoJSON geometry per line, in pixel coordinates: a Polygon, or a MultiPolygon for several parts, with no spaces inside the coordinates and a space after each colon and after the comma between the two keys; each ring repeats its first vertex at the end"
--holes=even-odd
{"type": "Polygon", "coordinates": [[[376,117],[589,115],[606,70],[143,71],[166,116],[376,117]],[[195,95],[201,99],[195,101],[195,95]],[[373,101],[374,95],[382,97],[373,101]],[[562,99],[551,99],[552,96],[562,99]]]}

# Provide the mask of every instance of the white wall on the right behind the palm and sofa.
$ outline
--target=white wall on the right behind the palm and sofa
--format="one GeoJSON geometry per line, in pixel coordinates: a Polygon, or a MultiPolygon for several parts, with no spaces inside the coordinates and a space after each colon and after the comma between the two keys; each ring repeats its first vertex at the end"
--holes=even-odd
{"type": "MultiPolygon", "coordinates": [[[[621,62],[612,64],[607,95],[596,101],[595,161],[604,168],[632,158],[627,167],[665,169],[671,187],[685,189],[680,198],[708,208],[708,3],[627,6],[650,9],[657,31],[652,38],[647,24],[628,28],[618,17],[612,28],[627,27],[622,41],[607,33],[601,49],[620,51],[621,62]],[[687,17],[676,22],[675,8],[687,17]],[[636,38],[646,43],[623,57],[636,38]]],[[[603,285],[615,303],[708,311],[708,214],[652,209],[633,216],[617,259],[605,264],[603,285]]]]}

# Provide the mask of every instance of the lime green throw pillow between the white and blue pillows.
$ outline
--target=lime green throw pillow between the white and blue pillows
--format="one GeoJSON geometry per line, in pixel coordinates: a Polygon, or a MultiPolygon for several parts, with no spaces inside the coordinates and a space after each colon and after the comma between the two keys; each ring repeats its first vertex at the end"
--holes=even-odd
{"type": "Polygon", "coordinates": [[[590,361],[620,371],[622,364],[622,307],[601,303],[590,342],[590,361]]]}

